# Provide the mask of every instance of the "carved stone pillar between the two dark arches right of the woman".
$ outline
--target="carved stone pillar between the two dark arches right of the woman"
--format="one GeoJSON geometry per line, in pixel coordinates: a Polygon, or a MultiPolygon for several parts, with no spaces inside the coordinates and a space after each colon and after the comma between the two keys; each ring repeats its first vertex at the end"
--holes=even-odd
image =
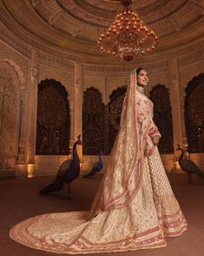
{"type": "Polygon", "coordinates": [[[176,58],[169,60],[170,98],[172,106],[174,147],[182,146],[180,77],[176,58]]]}

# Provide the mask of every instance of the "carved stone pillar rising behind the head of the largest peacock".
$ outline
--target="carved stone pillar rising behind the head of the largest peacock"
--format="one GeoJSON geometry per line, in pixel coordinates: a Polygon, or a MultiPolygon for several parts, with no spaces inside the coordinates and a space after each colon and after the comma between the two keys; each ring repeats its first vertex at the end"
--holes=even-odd
{"type": "MultiPolygon", "coordinates": [[[[75,64],[75,90],[74,90],[74,142],[78,135],[82,138],[82,100],[83,100],[83,71],[82,64],[75,64]]],[[[79,147],[79,157],[82,161],[82,147],[79,147]]]]}

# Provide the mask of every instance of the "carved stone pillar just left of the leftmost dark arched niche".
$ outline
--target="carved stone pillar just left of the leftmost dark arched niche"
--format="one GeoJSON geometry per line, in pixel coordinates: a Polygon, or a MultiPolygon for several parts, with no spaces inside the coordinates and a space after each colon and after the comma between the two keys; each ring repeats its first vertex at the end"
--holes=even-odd
{"type": "MultiPolygon", "coordinates": [[[[28,172],[32,172],[36,153],[36,111],[37,111],[37,84],[39,79],[38,51],[32,49],[29,72],[29,111],[28,111],[28,172]]],[[[30,174],[30,173],[29,173],[30,174]]]]}

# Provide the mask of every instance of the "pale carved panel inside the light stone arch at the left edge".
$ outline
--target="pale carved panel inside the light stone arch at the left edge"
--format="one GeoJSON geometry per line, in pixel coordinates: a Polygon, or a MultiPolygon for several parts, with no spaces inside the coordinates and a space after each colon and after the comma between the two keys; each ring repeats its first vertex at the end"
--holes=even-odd
{"type": "Polygon", "coordinates": [[[0,167],[10,168],[16,163],[21,119],[19,87],[14,68],[0,62],[0,167]]]}

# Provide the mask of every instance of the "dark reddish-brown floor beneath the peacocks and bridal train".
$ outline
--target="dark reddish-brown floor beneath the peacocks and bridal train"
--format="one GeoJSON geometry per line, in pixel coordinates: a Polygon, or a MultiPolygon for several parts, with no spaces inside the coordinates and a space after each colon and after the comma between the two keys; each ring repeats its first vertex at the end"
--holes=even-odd
{"type": "MultiPolygon", "coordinates": [[[[91,255],[118,256],[203,256],[204,255],[204,180],[194,177],[188,185],[186,174],[168,175],[182,212],[188,220],[188,231],[181,237],[168,238],[168,246],[161,249],[127,253],[95,253],[91,255]]],[[[72,199],[63,199],[62,193],[42,196],[38,191],[53,177],[0,180],[0,255],[46,256],[53,253],[37,251],[17,244],[9,238],[10,227],[23,219],[45,212],[89,210],[101,177],[76,179],[71,187],[72,199]]],[[[64,254],[58,254],[64,255],[64,254]]]]}

